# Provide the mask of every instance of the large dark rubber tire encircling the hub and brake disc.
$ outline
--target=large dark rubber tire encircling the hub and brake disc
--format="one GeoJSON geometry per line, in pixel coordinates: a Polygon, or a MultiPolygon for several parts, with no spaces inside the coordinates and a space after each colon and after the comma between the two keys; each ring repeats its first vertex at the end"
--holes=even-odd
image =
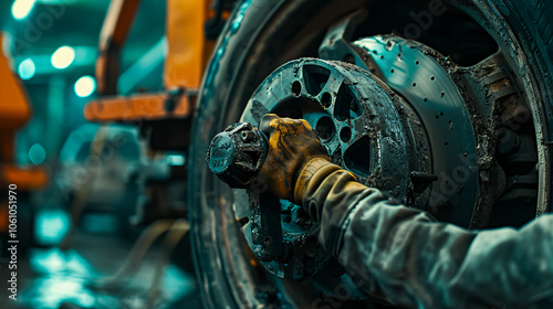
{"type": "MultiPolygon", "coordinates": [[[[272,278],[255,266],[253,257],[244,249],[246,242],[234,222],[232,191],[209,172],[206,151],[217,132],[238,121],[248,98],[265,76],[286,61],[316,57],[319,43],[327,28],[369,7],[369,2],[250,0],[238,3],[231,14],[200,88],[188,162],[190,235],[206,308],[312,308],[313,299],[320,296],[309,283],[272,278]]],[[[386,6],[386,1],[376,2],[376,6],[386,6]]],[[[397,2],[410,6],[417,1],[397,2]]],[[[530,102],[538,153],[541,162],[545,162],[540,164],[538,198],[539,204],[545,206],[539,207],[538,213],[549,211],[552,198],[547,145],[553,140],[550,99],[553,92],[553,8],[540,0],[448,2],[486,29],[500,49],[512,51],[508,61],[519,70],[514,73],[530,102]],[[502,32],[502,29],[507,31],[502,32]]],[[[404,13],[409,17],[408,9],[404,13]]],[[[405,22],[409,21],[407,18],[405,22]]],[[[356,35],[390,30],[382,28],[376,26],[375,33],[371,32],[373,30],[365,33],[364,29],[356,35]]],[[[425,33],[421,40],[425,40],[425,33]]],[[[431,45],[431,42],[427,44],[431,45]]],[[[448,54],[447,46],[441,52],[448,54]]]]}

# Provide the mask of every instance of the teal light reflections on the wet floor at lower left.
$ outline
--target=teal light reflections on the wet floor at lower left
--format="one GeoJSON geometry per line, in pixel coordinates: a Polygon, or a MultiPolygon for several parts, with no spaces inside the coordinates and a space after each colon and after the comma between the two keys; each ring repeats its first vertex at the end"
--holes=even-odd
{"type": "MultiPolygon", "coordinates": [[[[164,271],[159,287],[153,286],[155,264],[161,251],[154,246],[139,269],[125,280],[108,280],[123,264],[129,249],[128,242],[101,239],[81,235],[73,249],[31,248],[19,267],[18,300],[9,300],[4,292],[1,308],[17,309],[145,309],[200,308],[195,278],[175,264],[164,271]],[[77,243],[79,244],[79,243],[77,243]],[[92,245],[92,246],[91,246],[92,245]],[[8,302],[6,300],[9,300],[8,302]],[[4,307],[2,303],[7,303],[4,307]]],[[[8,269],[0,269],[7,278],[8,269]]]]}

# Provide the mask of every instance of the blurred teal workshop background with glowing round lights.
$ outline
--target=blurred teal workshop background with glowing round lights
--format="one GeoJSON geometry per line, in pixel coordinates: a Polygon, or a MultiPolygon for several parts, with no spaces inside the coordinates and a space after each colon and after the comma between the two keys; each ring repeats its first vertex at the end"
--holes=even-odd
{"type": "MultiPolygon", "coordinates": [[[[171,258],[159,267],[165,263],[159,239],[136,262],[132,274],[105,284],[121,270],[144,231],[128,223],[140,199],[132,175],[125,180],[125,191],[92,192],[106,194],[97,203],[107,209],[84,213],[71,244],[60,248],[71,228],[69,209],[75,189],[87,181],[75,166],[90,156],[98,129],[85,120],[83,109],[97,95],[94,71],[108,6],[107,0],[0,1],[12,71],[19,74],[33,110],[17,135],[17,162],[41,167],[52,177],[43,190],[19,201],[17,301],[8,299],[10,270],[6,244],[1,244],[2,308],[145,308],[152,299],[156,308],[199,306],[194,268],[187,265],[191,260],[171,258]],[[109,209],[114,206],[118,210],[109,209]],[[153,280],[156,276],[157,281],[153,280]]],[[[119,94],[163,90],[165,28],[166,2],[142,1],[122,52],[119,94]]],[[[140,161],[136,126],[113,126],[112,130],[123,135],[124,145],[103,162],[105,187],[119,185],[122,174],[132,173],[140,161]]],[[[182,164],[179,156],[169,160],[182,164]]],[[[177,244],[176,252],[187,251],[187,244],[177,244]]]]}

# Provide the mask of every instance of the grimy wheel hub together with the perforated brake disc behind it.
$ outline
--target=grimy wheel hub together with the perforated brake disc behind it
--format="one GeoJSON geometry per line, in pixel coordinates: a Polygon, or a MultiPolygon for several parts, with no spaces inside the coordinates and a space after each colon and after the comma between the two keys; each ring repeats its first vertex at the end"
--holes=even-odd
{"type": "MultiPolygon", "coordinates": [[[[345,62],[291,61],[258,87],[240,120],[259,126],[268,113],[303,118],[316,130],[333,162],[349,170],[359,182],[426,209],[438,180],[434,170],[460,166],[456,160],[436,158],[462,153],[459,160],[463,160],[474,153],[476,147],[473,138],[465,138],[473,136],[470,119],[447,72],[416,45],[406,43],[386,42],[383,38],[356,42],[365,51],[364,58],[376,55],[382,61],[369,63],[372,67],[364,65],[375,74],[345,62]]],[[[455,199],[439,206],[458,206],[469,195],[473,199],[474,177],[468,177],[467,189],[455,192],[455,199]]],[[[270,273],[295,280],[321,271],[330,259],[316,244],[319,225],[301,206],[286,201],[280,205],[290,258],[263,258],[261,263],[270,273]]],[[[238,203],[234,207],[237,214],[248,212],[238,203]]],[[[250,224],[243,230],[255,252],[250,224]]]]}

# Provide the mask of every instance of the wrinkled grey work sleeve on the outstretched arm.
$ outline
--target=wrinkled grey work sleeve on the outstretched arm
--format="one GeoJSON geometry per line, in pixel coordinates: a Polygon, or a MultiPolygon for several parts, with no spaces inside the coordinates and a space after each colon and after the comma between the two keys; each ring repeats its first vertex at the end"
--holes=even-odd
{"type": "Polygon", "coordinates": [[[302,203],[321,244],[361,289],[406,308],[553,308],[553,215],[522,228],[436,222],[355,181],[317,171],[302,203]]]}

